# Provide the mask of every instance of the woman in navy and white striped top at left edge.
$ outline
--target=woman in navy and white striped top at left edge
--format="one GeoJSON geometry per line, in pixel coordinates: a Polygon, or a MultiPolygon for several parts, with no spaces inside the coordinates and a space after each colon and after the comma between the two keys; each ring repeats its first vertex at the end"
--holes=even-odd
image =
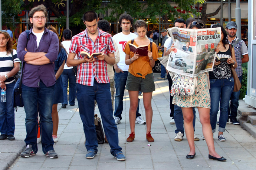
{"type": "Polygon", "coordinates": [[[5,30],[0,30],[0,87],[6,92],[6,101],[0,102],[0,140],[8,137],[14,140],[14,108],[12,92],[15,85],[14,75],[20,70],[20,60],[13,41],[5,30]]]}

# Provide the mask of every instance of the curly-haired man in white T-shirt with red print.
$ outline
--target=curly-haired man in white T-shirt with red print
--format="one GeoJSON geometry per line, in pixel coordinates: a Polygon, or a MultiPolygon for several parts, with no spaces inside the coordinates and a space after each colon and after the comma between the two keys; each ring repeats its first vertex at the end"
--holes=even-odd
{"type": "MultiPolygon", "coordinates": [[[[114,65],[115,68],[115,123],[121,123],[120,120],[122,119],[122,111],[123,111],[123,97],[124,97],[124,90],[126,85],[126,80],[128,76],[128,69],[129,66],[125,64],[125,52],[124,47],[127,44],[127,41],[132,40],[137,37],[137,35],[130,32],[133,18],[129,14],[122,14],[119,17],[119,24],[122,28],[122,32],[115,34],[113,36],[113,40],[116,42],[119,52],[120,52],[120,61],[118,64],[114,65]]],[[[139,124],[146,124],[144,120],[141,118],[141,114],[139,113],[139,105],[140,99],[138,99],[138,108],[136,112],[136,123],[139,124]]]]}

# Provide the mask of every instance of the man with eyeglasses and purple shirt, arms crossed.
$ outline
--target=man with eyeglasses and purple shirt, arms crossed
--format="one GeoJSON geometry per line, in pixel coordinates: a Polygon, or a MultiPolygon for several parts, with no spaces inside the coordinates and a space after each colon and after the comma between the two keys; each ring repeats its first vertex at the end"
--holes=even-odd
{"type": "Polygon", "coordinates": [[[22,95],[26,112],[26,148],[21,157],[37,153],[37,115],[40,116],[40,134],[43,153],[57,158],[52,139],[52,104],[55,90],[54,62],[59,51],[58,36],[46,29],[47,10],[43,5],[32,8],[28,23],[29,33],[20,34],[17,56],[23,62],[22,95]]]}

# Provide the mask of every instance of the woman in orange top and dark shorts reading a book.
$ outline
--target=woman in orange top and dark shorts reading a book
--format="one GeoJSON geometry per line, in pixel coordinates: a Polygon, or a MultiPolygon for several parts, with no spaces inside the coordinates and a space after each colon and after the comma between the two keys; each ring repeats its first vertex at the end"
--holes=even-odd
{"type": "Polygon", "coordinates": [[[155,91],[152,67],[154,67],[155,59],[158,57],[158,50],[157,45],[154,42],[150,42],[146,37],[147,23],[144,20],[137,20],[134,28],[138,33],[138,37],[129,40],[124,49],[126,54],[125,64],[129,65],[125,89],[128,90],[130,98],[129,122],[131,134],[127,138],[127,142],[132,142],[135,137],[135,118],[139,91],[143,92],[143,103],[147,122],[146,139],[148,142],[154,142],[150,134],[153,115],[151,99],[152,92],[155,91]],[[145,45],[148,50],[146,49],[145,55],[140,56],[137,52],[134,53],[130,50],[129,43],[134,44],[136,47],[145,45]]]}

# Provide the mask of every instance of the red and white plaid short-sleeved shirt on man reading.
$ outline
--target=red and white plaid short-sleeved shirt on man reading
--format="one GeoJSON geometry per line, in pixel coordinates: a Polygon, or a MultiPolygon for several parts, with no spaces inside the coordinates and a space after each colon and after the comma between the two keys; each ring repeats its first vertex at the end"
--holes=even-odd
{"type": "MultiPolygon", "coordinates": [[[[110,34],[103,31],[99,31],[99,34],[93,42],[88,36],[87,29],[81,33],[75,35],[72,38],[69,52],[75,53],[78,59],[82,59],[80,55],[82,51],[93,54],[95,52],[114,53],[115,47],[110,34]]],[[[107,65],[104,60],[95,58],[94,62],[84,62],[78,65],[77,82],[86,86],[93,86],[94,78],[98,83],[109,83],[107,65]]]]}

